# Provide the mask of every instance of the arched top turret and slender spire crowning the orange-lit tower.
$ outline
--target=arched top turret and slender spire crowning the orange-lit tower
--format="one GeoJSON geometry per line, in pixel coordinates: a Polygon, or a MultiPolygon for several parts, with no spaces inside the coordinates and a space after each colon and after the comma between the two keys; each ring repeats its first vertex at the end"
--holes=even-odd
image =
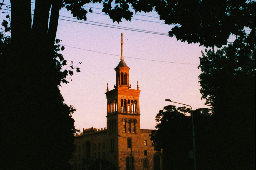
{"type": "Polygon", "coordinates": [[[114,88],[131,88],[129,84],[129,70],[130,68],[124,62],[124,55],[123,55],[123,33],[121,34],[121,60],[117,67],[115,68],[116,71],[116,84],[114,88]]]}

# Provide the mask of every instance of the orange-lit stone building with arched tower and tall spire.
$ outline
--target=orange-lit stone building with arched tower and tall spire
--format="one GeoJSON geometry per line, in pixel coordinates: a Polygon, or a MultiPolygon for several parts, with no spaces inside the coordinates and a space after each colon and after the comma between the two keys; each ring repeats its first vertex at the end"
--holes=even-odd
{"type": "Polygon", "coordinates": [[[75,136],[76,151],[70,160],[74,170],[90,169],[95,164],[103,164],[103,160],[109,162],[105,169],[111,170],[162,169],[162,153],[154,150],[149,138],[152,130],[140,128],[140,90],[138,83],[136,89],[131,89],[129,70],[124,62],[121,34],[121,61],[115,68],[116,84],[113,90],[107,86],[105,93],[107,127],[83,129],[75,136]]]}

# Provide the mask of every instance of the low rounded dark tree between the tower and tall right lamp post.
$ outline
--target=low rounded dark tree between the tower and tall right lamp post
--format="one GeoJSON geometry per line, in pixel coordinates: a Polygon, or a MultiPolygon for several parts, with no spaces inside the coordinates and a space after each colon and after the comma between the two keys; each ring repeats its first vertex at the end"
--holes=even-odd
{"type": "Polygon", "coordinates": [[[164,169],[189,169],[188,150],[192,150],[192,121],[185,114],[190,109],[165,106],[156,115],[157,130],[153,130],[150,140],[153,140],[156,150],[163,151],[164,169]]]}

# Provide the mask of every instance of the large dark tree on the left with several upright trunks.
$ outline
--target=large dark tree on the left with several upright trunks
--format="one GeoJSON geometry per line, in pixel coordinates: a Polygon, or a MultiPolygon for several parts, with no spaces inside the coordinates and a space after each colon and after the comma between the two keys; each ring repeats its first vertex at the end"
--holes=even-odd
{"type": "MultiPolygon", "coordinates": [[[[62,7],[86,20],[83,5],[90,2],[102,0],[37,0],[32,24],[31,1],[11,0],[11,27],[3,22],[11,39],[0,37],[0,169],[70,168],[75,109],[64,103],[58,86],[73,72],[61,70],[67,61],[58,53],[64,48],[59,41],[55,45],[55,36],[62,7]]],[[[112,8],[105,2],[105,13],[113,21],[128,20],[129,6],[118,3],[112,8]]]]}

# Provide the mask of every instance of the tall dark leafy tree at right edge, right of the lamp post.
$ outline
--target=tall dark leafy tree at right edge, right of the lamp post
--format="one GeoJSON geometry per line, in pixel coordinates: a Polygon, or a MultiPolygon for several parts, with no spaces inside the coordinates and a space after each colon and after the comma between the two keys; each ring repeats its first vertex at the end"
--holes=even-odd
{"type": "Polygon", "coordinates": [[[255,48],[250,51],[229,45],[200,57],[200,92],[213,109],[216,169],[255,169],[255,48]]]}

